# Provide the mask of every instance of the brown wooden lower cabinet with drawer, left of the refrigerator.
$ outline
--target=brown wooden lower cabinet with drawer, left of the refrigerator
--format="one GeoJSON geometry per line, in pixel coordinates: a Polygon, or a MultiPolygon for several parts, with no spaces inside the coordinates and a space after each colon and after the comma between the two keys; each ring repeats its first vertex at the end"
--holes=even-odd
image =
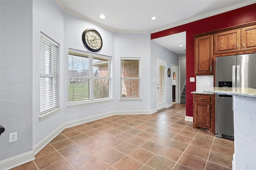
{"type": "Polygon", "coordinates": [[[215,112],[212,110],[213,95],[193,94],[193,128],[205,128],[215,134],[215,112]]]}

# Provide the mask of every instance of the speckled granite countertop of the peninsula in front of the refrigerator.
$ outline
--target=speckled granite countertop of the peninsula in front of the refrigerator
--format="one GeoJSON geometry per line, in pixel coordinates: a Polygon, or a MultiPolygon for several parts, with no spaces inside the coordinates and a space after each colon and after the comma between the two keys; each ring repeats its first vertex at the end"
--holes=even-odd
{"type": "Polygon", "coordinates": [[[204,92],[256,98],[256,89],[254,88],[214,87],[204,90],[204,92]]]}

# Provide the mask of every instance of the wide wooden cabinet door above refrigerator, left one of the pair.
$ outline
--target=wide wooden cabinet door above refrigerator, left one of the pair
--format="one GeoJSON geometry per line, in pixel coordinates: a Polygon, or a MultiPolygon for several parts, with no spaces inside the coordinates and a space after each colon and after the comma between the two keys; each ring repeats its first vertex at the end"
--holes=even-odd
{"type": "Polygon", "coordinates": [[[214,53],[226,53],[242,49],[241,29],[214,34],[214,53]]]}

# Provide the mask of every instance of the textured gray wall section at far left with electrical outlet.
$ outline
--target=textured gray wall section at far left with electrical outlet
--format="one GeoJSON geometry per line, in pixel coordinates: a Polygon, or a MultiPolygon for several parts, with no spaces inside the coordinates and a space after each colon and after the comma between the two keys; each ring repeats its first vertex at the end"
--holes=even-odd
{"type": "Polygon", "coordinates": [[[32,150],[32,1],[0,1],[0,160],[32,150]],[[18,141],[9,143],[9,133],[18,141]]]}

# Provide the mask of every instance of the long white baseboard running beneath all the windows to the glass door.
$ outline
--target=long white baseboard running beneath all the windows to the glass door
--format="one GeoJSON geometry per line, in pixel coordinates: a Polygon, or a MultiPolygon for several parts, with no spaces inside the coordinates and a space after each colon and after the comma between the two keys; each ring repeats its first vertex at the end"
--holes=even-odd
{"type": "Polygon", "coordinates": [[[52,141],[52,139],[54,139],[57,135],[59,135],[60,132],[62,132],[64,129],[66,129],[68,127],[80,125],[82,123],[87,123],[87,122],[90,122],[90,121],[102,119],[104,117],[109,117],[109,116],[112,116],[112,115],[152,114],[152,113],[155,113],[155,112],[156,112],[156,109],[146,110],[146,111],[144,111],[144,110],[111,111],[111,112],[103,113],[103,114],[100,114],[100,115],[95,115],[95,116],[86,117],[86,118],[83,118],[83,119],[78,119],[78,120],[75,120],[75,121],[70,121],[70,122],[63,123],[60,127],[55,129],[52,133],[50,133],[48,136],[46,136],[44,139],[42,139],[42,141],[37,143],[33,147],[32,151],[26,152],[24,154],[20,154],[20,155],[14,156],[12,158],[8,158],[8,159],[0,161],[0,170],[9,170],[9,169],[14,168],[16,166],[20,166],[22,164],[25,164],[27,162],[30,162],[30,161],[34,160],[35,159],[34,158],[35,154],[37,154],[50,141],[52,141]]]}

